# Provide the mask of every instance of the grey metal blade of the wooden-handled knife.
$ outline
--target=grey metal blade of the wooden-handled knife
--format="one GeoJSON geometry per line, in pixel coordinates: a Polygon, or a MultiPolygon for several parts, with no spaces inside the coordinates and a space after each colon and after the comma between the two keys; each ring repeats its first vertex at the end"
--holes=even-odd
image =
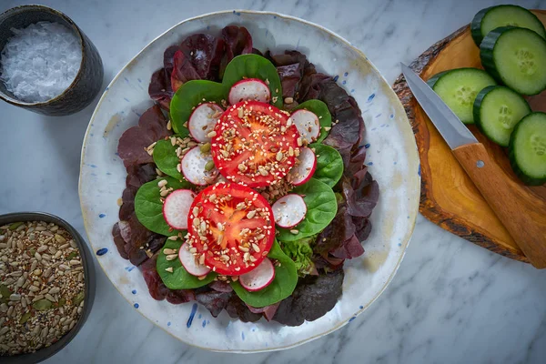
{"type": "Polygon", "coordinates": [[[478,143],[476,137],[470,133],[470,130],[460,121],[460,118],[451,111],[450,106],[447,106],[440,96],[420,76],[417,76],[409,66],[403,63],[400,63],[400,65],[413,96],[417,98],[420,106],[425,110],[430,121],[436,126],[450,148],[455,149],[466,144],[478,143]]]}

